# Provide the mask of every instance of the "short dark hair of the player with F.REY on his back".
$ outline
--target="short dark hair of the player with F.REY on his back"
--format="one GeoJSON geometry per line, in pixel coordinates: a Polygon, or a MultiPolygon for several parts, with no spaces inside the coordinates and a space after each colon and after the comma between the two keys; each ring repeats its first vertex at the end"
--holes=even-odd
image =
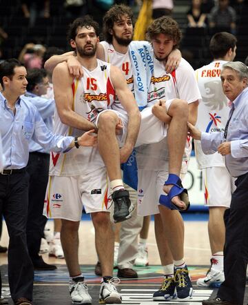
{"type": "Polygon", "coordinates": [[[228,32],[218,32],[211,37],[209,50],[214,59],[225,57],[227,51],[231,48],[234,51],[237,39],[228,32]]]}

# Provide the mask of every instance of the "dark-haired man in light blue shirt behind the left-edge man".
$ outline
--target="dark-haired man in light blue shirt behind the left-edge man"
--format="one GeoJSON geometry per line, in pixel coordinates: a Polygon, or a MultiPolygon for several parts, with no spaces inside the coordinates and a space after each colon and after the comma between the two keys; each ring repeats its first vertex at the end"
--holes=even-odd
{"type": "MultiPolygon", "coordinates": [[[[55,110],[54,99],[45,99],[49,81],[44,69],[30,69],[27,75],[27,92],[22,96],[24,101],[29,101],[37,107],[45,125],[52,131],[53,115],[55,110]]],[[[27,172],[29,179],[28,192],[28,220],[27,220],[27,244],[28,252],[35,270],[54,270],[56,266],[46,264],[39,256],[41,237],[46,223],[43,216],[45,190],[48,184],[50,151],[45,150],[39,144],[30,141],[27,172]]]]}

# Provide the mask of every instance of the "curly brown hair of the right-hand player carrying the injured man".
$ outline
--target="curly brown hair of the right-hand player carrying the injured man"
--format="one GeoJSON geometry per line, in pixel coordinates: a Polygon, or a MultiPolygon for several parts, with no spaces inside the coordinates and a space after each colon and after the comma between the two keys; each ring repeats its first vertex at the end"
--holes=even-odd
{"type": "Polygon", "coordinates": [[[178,48],[182,32],[176,20],[169,16],[163,16],[152,21],[147,28],[147,38],[152,41],[158,34],[168,35],[175,43],[173,48],[178,48]]]}

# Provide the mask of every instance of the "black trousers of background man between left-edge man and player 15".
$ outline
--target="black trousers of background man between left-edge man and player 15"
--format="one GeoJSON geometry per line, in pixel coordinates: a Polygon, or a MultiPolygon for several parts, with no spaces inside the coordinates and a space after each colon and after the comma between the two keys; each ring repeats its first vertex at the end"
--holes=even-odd
{"type": "Polygon", "coordinates": [[[50,155],[45,153],[30,153],[27,171],[29,179],[27,242],[28,252],[32,262],[39,261],[41,237],[46,223],[43,216],[45,190],[48,185],[50,155]]]}

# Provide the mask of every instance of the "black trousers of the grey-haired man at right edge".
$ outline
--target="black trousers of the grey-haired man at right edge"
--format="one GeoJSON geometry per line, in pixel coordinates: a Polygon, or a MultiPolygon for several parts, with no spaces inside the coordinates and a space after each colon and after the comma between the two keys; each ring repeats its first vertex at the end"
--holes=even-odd
{"type": "Polygon", "coordinates": [[[236,179],[236,186],[226,225],[225,282],[221,284],[217,296],[242,305],[248,262],[248,173],[236,179]]]}

